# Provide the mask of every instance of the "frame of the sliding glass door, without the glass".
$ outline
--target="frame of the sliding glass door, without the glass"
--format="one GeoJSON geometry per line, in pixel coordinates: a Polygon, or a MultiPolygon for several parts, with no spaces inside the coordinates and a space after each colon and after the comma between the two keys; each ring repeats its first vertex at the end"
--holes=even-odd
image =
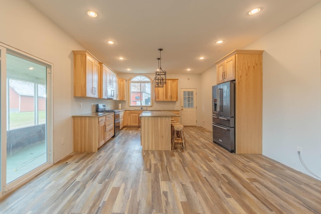
{"type": "Polygon", "coordinates": [[[19,188],[21,185],[33,179],[36,175],[43,172],[45,169],[53,165],[53,64],[49,63],[43,59],[10,47],[6,44],[0,43],[0,198],[4,195],[12,192],[13,190],[19,188]],[[16,56],[22,57],[24,59],[33,61],[35,63],[44,65],[47,67],[47,162],[41,166],[35,168],[34,170],[26,173],[25,175],[17,178],[16,180],[7,184],[7,109],[8,109],[8,92],[7,92],[7,53],[14,54],[16,56]],[[5,107],[4,107],[5,106],[5,107]]]}

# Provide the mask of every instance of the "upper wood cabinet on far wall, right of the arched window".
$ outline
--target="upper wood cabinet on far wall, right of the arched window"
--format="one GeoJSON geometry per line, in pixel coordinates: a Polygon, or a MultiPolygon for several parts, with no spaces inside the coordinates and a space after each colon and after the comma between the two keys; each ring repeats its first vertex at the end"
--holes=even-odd
{"type": "Polygon", "coordinates": [[[166,79],[164,87],[154,88],[155,101],[177,101],[178,79],[166,79]]]}

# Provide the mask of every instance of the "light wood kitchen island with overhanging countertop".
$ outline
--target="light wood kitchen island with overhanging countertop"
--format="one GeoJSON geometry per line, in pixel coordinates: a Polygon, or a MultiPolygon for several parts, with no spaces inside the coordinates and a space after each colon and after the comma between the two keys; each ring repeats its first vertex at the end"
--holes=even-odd
{"type": "Polygon", "coordinates": [[[144,111],[140,115],[142,150],[171,150],[171,118],[168,111],[144,111]]]}

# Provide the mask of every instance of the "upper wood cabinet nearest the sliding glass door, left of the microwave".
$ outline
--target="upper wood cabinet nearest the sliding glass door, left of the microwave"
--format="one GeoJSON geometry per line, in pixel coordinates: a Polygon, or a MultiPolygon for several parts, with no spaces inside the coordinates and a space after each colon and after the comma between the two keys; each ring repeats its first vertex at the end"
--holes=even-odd
{"type": "Polygon", "coordinates": [[[98,98],[99,61],[87,51],[73,51],[74,96],[98,98]]]}

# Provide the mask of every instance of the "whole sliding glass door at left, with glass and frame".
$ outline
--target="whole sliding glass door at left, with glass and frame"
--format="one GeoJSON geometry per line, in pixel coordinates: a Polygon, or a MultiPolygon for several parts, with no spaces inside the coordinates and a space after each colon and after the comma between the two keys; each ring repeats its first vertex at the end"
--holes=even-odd
{"type": "Polygon", "coordinates": [[[51,66],[2,48],[1,191],[52,163],[51,66]],[[3,52],[6,52],[5,54],[3,52]]]}

